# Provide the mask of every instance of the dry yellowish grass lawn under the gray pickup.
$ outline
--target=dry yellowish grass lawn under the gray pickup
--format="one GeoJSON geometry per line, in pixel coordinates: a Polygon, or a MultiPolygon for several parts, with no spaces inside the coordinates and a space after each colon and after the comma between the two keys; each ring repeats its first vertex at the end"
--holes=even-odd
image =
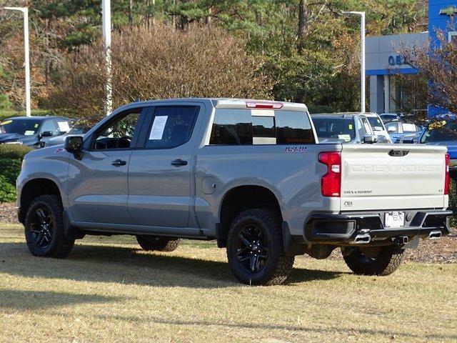
{"type": "Polygon", "coordinates": [[[457,264],[358,277],[296,258],[281,286],[238,284],[224,249],[142,252],[89,237],[67,259],[32,257],[0,224],[0,342],[456,342],[457,264]]]}

